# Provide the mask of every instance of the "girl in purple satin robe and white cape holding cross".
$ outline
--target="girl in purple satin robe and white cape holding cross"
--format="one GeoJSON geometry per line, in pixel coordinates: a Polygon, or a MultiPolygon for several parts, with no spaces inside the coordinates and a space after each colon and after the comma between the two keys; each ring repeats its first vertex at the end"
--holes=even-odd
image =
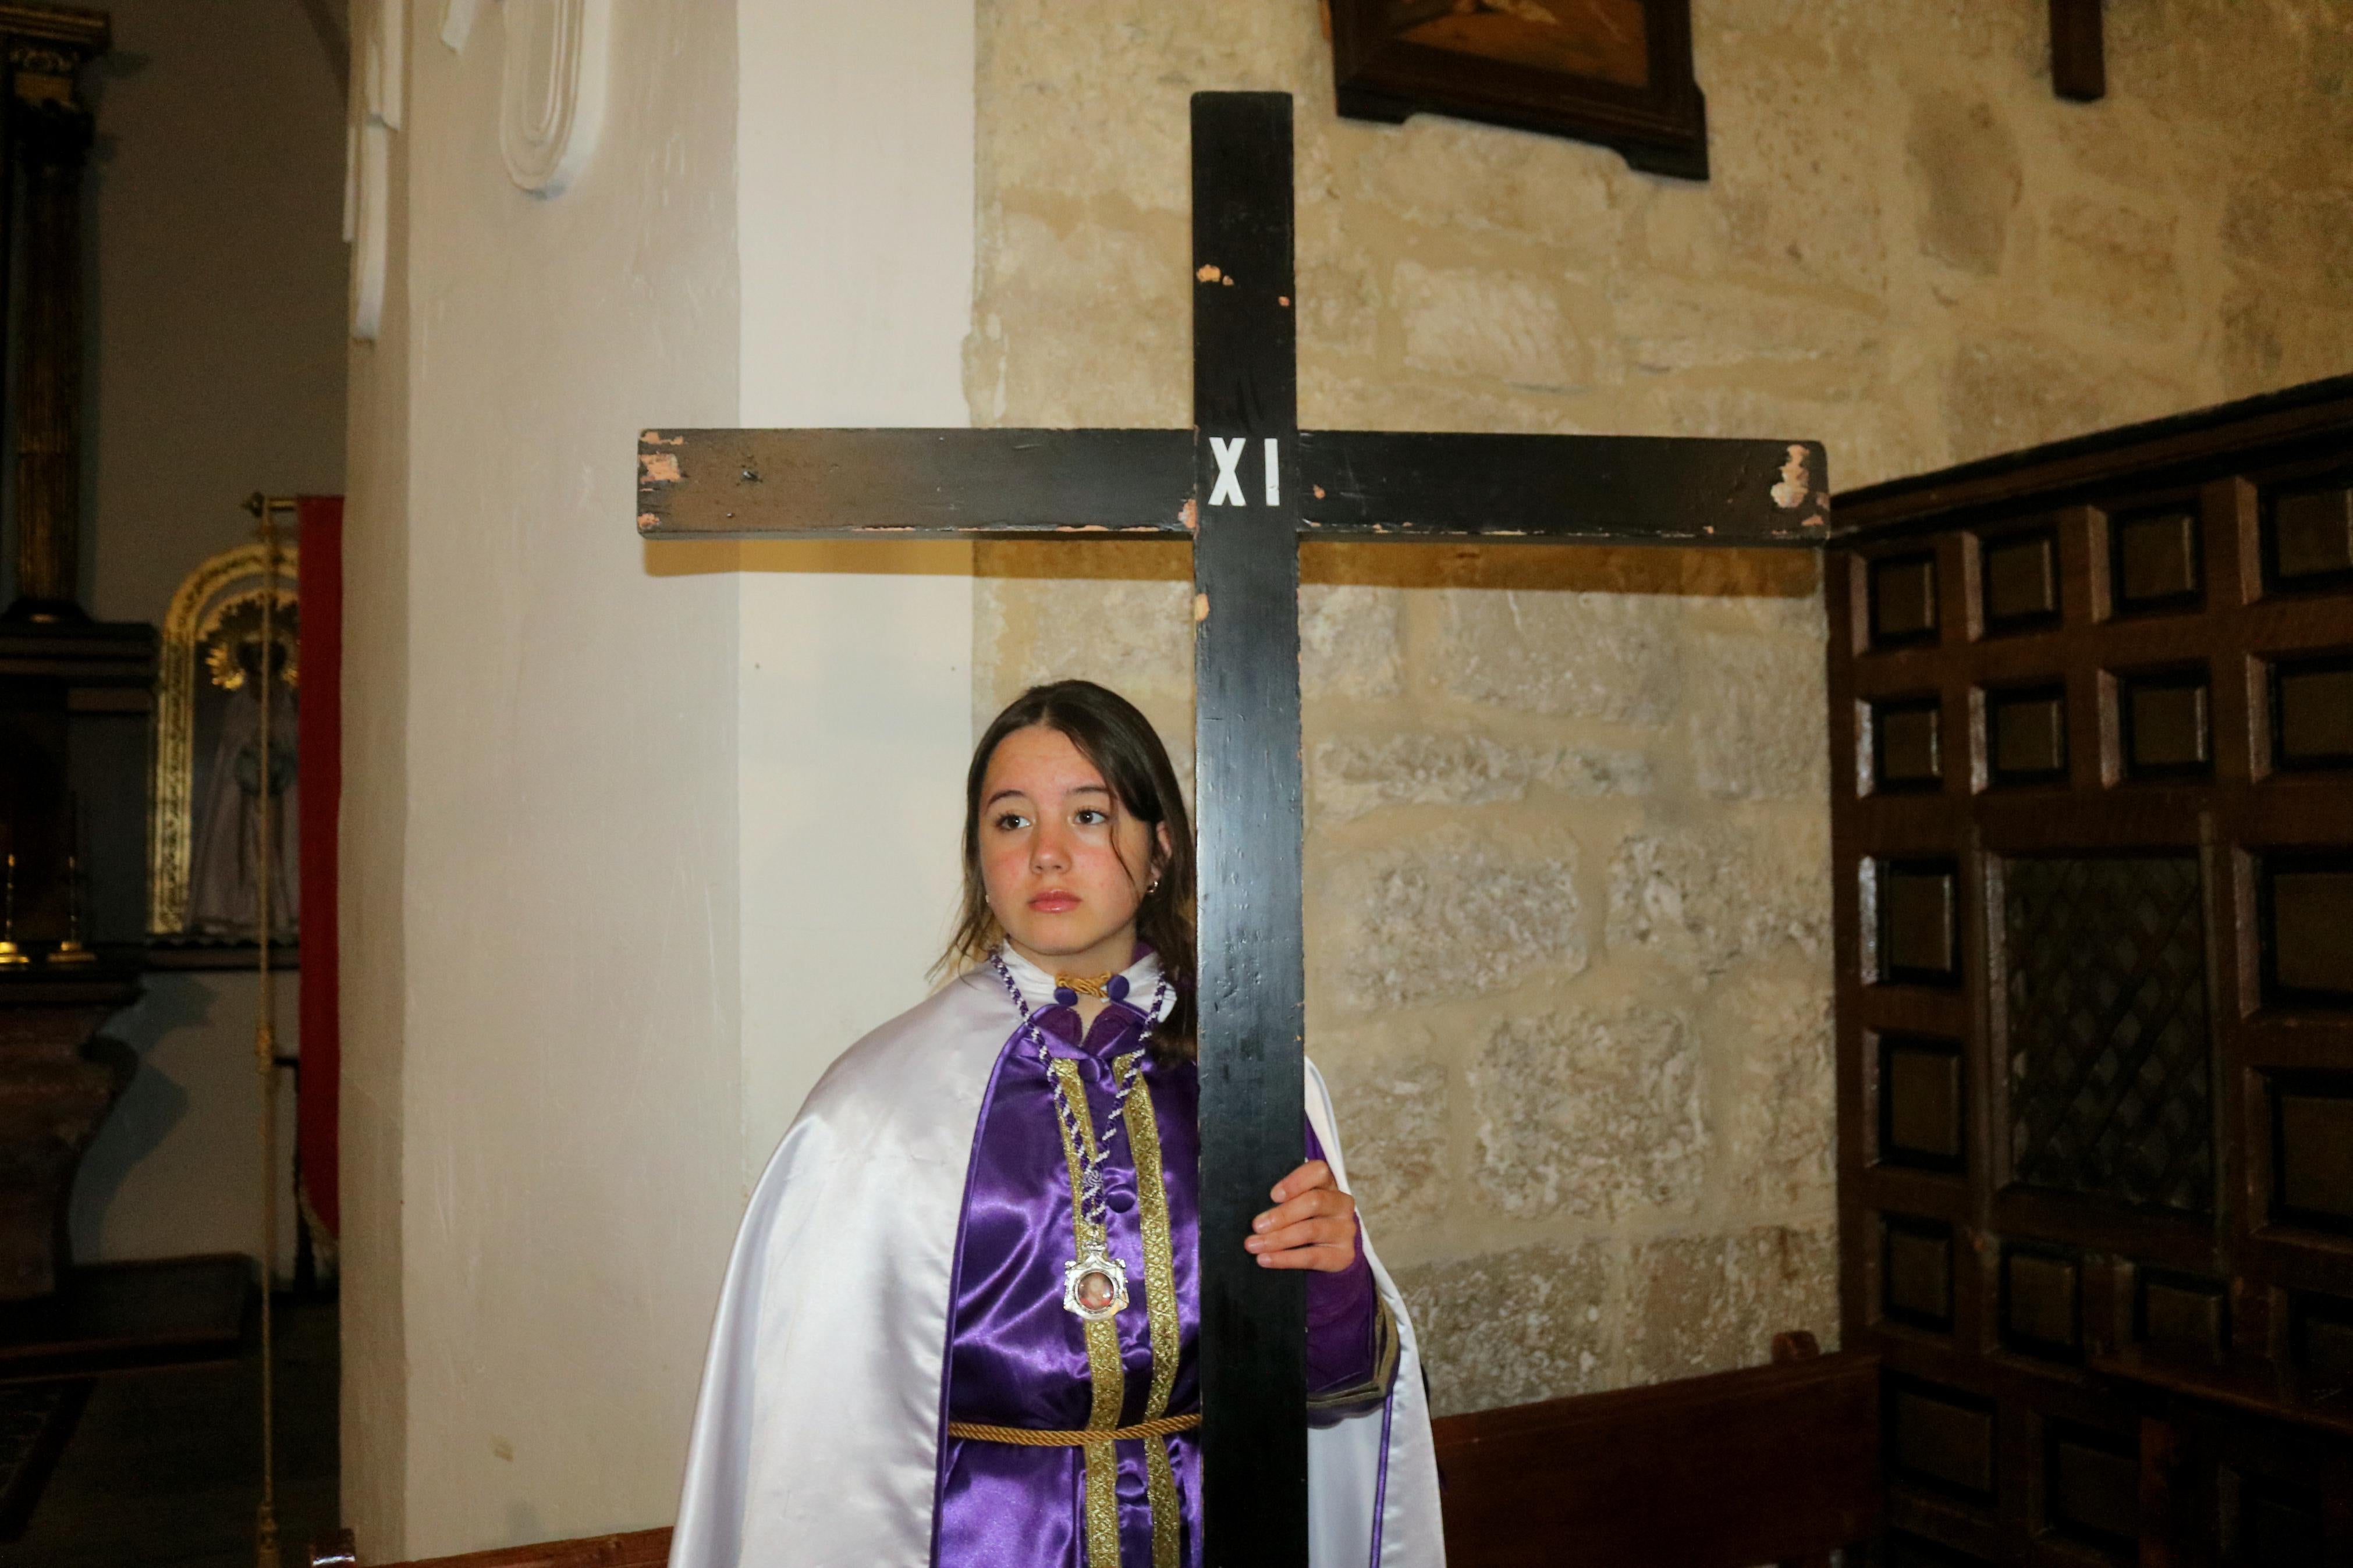
{"type": "Polygon", "coordinates": [[[1308,1272],[1315,1566],[1442,1563],[1412,1324],[1313,1067],[1306,1164],[1200,1234],[1191,905],[1144,715],[1089,682],[1000,712],[955,978],[833,1063],[744,1215],[671,1568],[1198,1568],[1200,1246],[1308,1272]]]}

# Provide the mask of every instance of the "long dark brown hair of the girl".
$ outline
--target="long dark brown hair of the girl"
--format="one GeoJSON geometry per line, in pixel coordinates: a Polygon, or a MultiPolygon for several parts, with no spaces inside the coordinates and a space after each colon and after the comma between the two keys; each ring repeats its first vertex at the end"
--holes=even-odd
{"type": "Polygon", "coordinates": [[[1153,1030],[1158,1056],[1193,1056],[1193,823],[1184,809],[1184,792],[1176,788],[1176,769],[1169,766],[1167,748],[1160,745],[1151,719],[1136,712],[1118,691],[1094,682],[1052,682],[1031,686],[1000,712],[972,748],[972,769],[965,773],[965,893],[955,917],[955,936],[939,954],[934,973],[979,964],[1005,938],[988,907],[988,886],[981,882],[981,783],[988,776],[988,759],[998,743],[1016,729],[1045,724],[1061,731],[1078,748],[1078,755],[1094,764],[1111,785],[1115,811],[1125,811],[1146,827],[1153,839],[1153,865],[1139,877],[1146,884],[1136,905],[1136,936],[1151,943],[1160,957],[1160,971],[1176,992],[1176,1009],[1153,1030]],[[1160,827],[1167,827],[1169,846],[1160,851],[1160,827]],[[1151,882],[1158,872],[1158,884],[1151,882]]]}

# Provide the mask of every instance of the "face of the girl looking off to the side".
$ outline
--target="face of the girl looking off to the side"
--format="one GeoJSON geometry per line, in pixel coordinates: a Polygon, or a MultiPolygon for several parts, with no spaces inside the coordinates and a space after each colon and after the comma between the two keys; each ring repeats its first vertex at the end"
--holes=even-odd
{"type": "MultiPolygon", "coordinates": [[[[1158,837],[1165,851],[1167,827],[1158,837]]],[[[1127,969],[1158,858],[1153,830],[1071,736],[1031,724],[998,741],[981,778],[981,884],[1021,957],[1066,976],[1127,969]]]]}

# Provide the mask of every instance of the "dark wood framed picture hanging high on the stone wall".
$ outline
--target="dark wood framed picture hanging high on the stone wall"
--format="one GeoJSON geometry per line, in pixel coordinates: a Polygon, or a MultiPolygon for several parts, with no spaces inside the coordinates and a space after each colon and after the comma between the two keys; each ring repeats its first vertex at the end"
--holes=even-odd
{"type": "Polygon", "coordinates": [[[1487,120],[1708,176],[1689,0],[1329,0],[1339,113],[1487,120]]]}

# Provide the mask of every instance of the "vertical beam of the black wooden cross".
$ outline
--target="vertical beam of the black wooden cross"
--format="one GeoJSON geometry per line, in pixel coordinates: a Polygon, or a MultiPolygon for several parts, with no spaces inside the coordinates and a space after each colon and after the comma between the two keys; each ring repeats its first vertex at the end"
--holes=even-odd
{"type": "Polygon", "coordinates": [[[1242,1251],[1304,1150],[1292,101],[1193,96],[1202,1563],[1308,1561],[1306,1286],[1242,1251]]]}

